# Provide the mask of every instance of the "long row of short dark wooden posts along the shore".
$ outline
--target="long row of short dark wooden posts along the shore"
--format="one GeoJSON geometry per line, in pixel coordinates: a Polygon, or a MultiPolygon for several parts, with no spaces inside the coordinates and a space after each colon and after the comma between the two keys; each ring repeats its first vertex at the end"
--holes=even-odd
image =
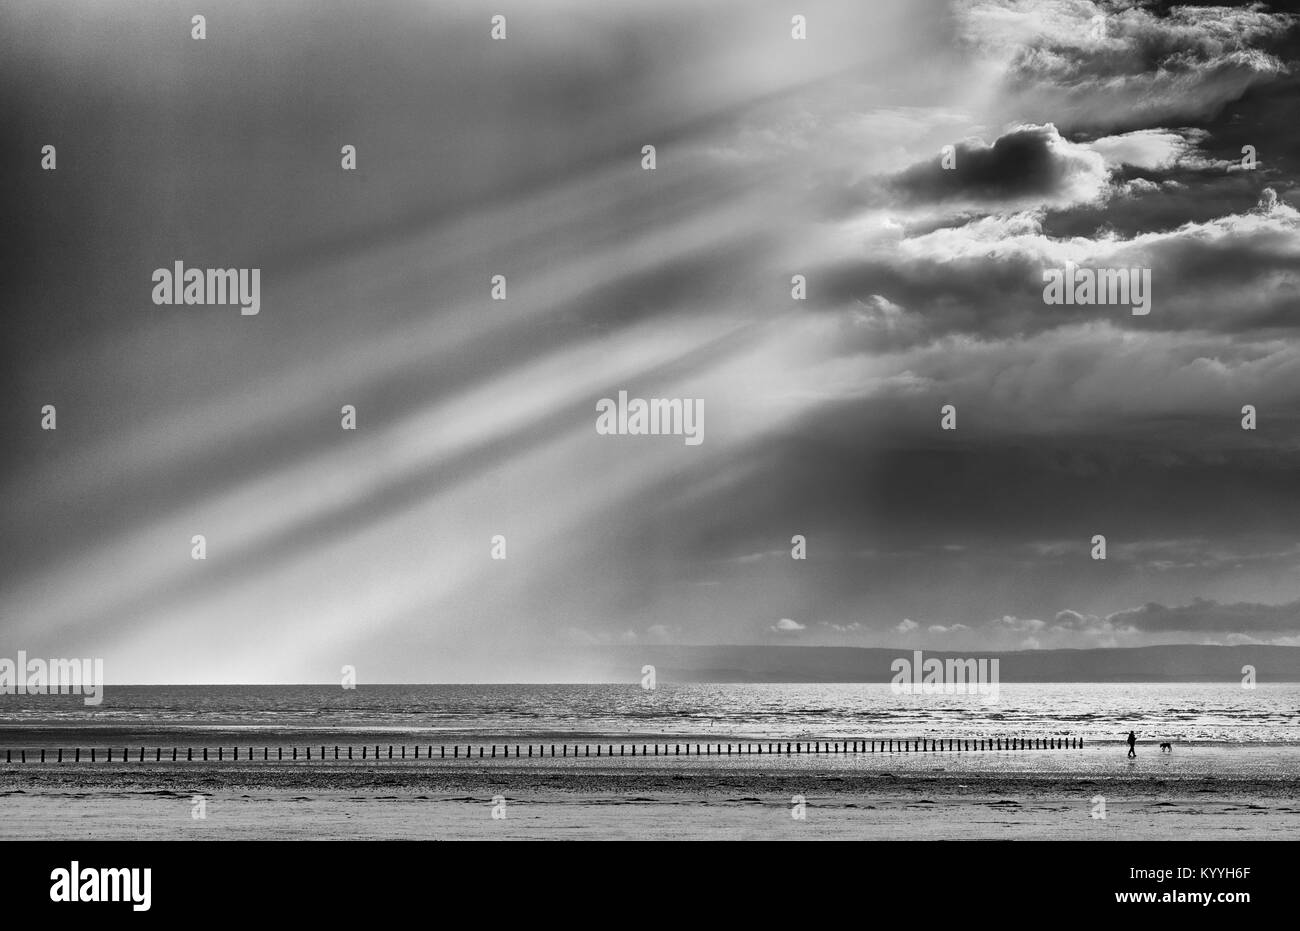
{"type": "MultiPolygon", "coordinates": [[[[477,748],[467,745],[467,746],[463,748],[464,749],[464,754],[460,753],[462,746],[459,744],[455,744],[455,745],[451,746],[451,754],[450,755],[447,754],[447,746],[439,745],[437,748],[437,750],[438,750],[437,757],[434,757],[434,746],[432,744],[429,744],[426,746],[428,746],[428,750],[426,750],[426,753],[424,755],[424,759],[448,759],[448,758],[450,759],[472,759],[473,755],[474,755],[473,754],[474,749],[478,750],[478,757],[477,757],[478,759],[489,759],[489,758],[494,759],[498,755],[497,754],[497,744],[478,745],[477,748]]],[[[528,749],[528,757],[532,758],[533,757],[533,749],[534,749],[533,745],[532,744],[526,744],[525,746],[528,749]]],[[[818,741],[792,741],[792,742],[768,742],[768,744],[703,744],[702,745],[703,749],[701,749],[701,744],[696,744],[696,752],[694,752],[694,754],[692,754],[692,752],[690,752],[690,744],[662,744],[662,745],[660,744],[641,744],[641,753],[640,754],[637,754],[637,745],[636,744],[630,744],[630,745],[629,744],[619,744],[618,745],[618,748],[619,748],[618,754],[615,754],[614,746],[615,746],[614,744],[604,744],[603,746],[601,744],[594,744],[594,745],[593,744],[582,744],[581,745],[581,750],[582,752],[578,753],[578,749],[580,749],[578,744],[560,744],[559,745],[559,753],[556,753],[555,744],[551,744],[550,745],[550,755],[551,757],[556,757],[556,755],[558,757],[601,757],[602,755],[602,753],[601,753],[602,749],[606,750],[606,753],[603,755],[607,755],[607,757],[614,757],[614,755],[619,755],[619,757],[625,757],[625,755],[632,755],[632,757],[636,757],[636,755],[642,755],[642,757],[651,757],[651,755],[654,755],[654,757],[660,757],[660,755],[662,757],[682,757],[682,755],[684,757],[690,757],[690,755],[696,755],[696,757],[720,757],[720,755],[732,755],[732,754],[742,754],[742,755],[744,754],[754,754],[754,755],[762,755],[764,753],[771,754],[771,755],[809,754],[809,753],[939,753],[939,752],[948,752],[948,750],[953,750],[953,752],[967,752],[967,750],[1067,750],[1067,749],[1078,750],[1078,749],[1080,749],[1083,746],[1083,739],[1082,737],[979,737],[979,739],[975,739],[975,740],[967,740],[967,739],[916,737],[916,739],[909,739],[909,740],[842,740],[842,741],[818,740],[818,741]],[[592,753],[592,748],[593,746],[595,748],[595,753],[592,753]],[[628,753],[628,748],[629,746],[632,749],[630,753],[628,753]],[[764,750],[764,746],[767,748],[766,750],[764,750]],[[660,748],[663,750],[662,753],[660,753],[660,748]],[[671,748],[671,753],[670,753],[670,748],[671,748]],[[725,749],[723,749],[723,748],[725,748],[725,749]]],[[[272,748],[266,748],[266,746],[261,748],[261,759],[264,759],[264,761],[269,761],[270,759],[270,749],[272,748]]],[[[276,749],[276,759],[277,761],[285,759],[285,748],[283,746],[277,746],[274,749],[276,749]]],[[[313,748],[311,748],[311,746],[304,746],[304,748],[291,746],[291,748],[289,748],[289,752],[290,752],[289,758],[290,759],[298,759],[299,758],[299,754],[298,754],[299,749],[302,749],[304,752],[304,754],[306,754],[303,757],[304,759],[313,759],[313,757],[312,757],[312,749],[313,748]]],[[[382,758],[381,754],[380,754],[380,745],[378,744],[374,745],[373,753],[370,753],[370,746],[369,745],[361,746],[360,748],[360,752],[361,752],[360,757],[354,755],[354,750],[355,749],[358,749],[358,748],[354,748],[354,746],[343,746],[343,748],[334,746],[334,759],[358,759],[358,758],[360,758],[360,759],[381,759],[382,758]],[[346,757],[339,755],[341,752],[346,752],[346,757]]],[[[389,744],[389,754],[387,754],[389,759],[407,759],[408,758],[407,757],[407,748],[406,748],[406,745],[400,745],[396,749],[400,753],[399,753],[399,755],[394,757],[393,755],[394,746],[391,744],[389,744]]],[[[536,749],[537,749],[537,757],[546,757],[547,755],[546,754],[546,749],[547,748],[546,748],[545,744],[538,744],[536,749]]],[[[185,748],[182,750],[181,748],[173,746],[173,748],[169,748],[169,750],[170,750],[170,759],[169,759],[169,762],[173,762],[173,763],[179,762],[182,758],[186,762],[192,762],[195,759],[195,755],[194,755],[195,753],[203,754],[200,757],[200,759],[204,759],[204,761],[216,759],[218,762],[224,762],[226,759],[230,759],[233,762],[238,762],[240,759],[239,748],[238,746],[229,748],[229,753],[228,753],[226,748],[218,746],[214,750],[214,754],[216,754],[214,757],[209,757],[209,753],[212,753],[212,752],[208,748],[205,748],[205,746],[200,748],[199,750],[195,750],[194,748],[185,748]],[[181,754],[183,754],[183,757],[181,754]]],[[[315,757],[315,759],[328,759],[329,757],[326,755],[326,750],[328,750],[326,746],[321,746],[320,748],[320,755],[315,757]]],[[[416,745],[413,748],[413,750],[415,752],[411,754],[410,758],[411,759],[420,759],[421,758],[420,757],[420,746],[416,745]]],[[[510,745],[502,744],[500,745],[500,750],[502,750],[502,753],[500,753],[502,757],[510,757],[510,745]]],[[[29,753],[27,750],[17,750],[17,752],[14,752],[14,750],[5,750],[5,762],[6,763],[13,763],[13,762],[26,763],[27,762],[27,753],[29,753]],[[17,761],[14,759],[14,753],[18,754],[17,761]]],[[[66,758],[66,761],[70,761],[70,762],[74,762],[74,763],[79,763],[79,762],[82,762],[82,754],[83,753],[88,754],[87,758],[92,763],[99,762],[100,759],[103,759],[104,762],[109,762],[109,763],[112,763],[114,761],[114,748],[107,748],[104,750],[103,755],[98,755],[98,752],[96,752],[95,748],[91,748],[88,750],[82,750],[82,749],[72,749],[72,750],[61,750],[60,749],[60,750],[39,750],[39,752],[38,750],[31,750],[30,753],[32,755],[31,762],[36,762],[36,754],[39,753],[42,763],[46,763],[46,762],[62,763],[62,762],[65,762],[65,758],[66,758]],[[47,754],[49,754],[48,758],[47,758],[47,754]]],[[[242,758],[251,762],[251,761],[256,759],[255,753],[256,753],[255,748],[250,746],[247,749],[247,754],[244,757],[242,757],[242,758]]],[[[146,762],[146,749],[143,746],[139,749],[139,752],[136,754],[133,754],[129,748],[124,746],[121,754],[117,755],[117,759],[120,762],[126,763],[126,762],[130,762],[130,759],[131,759],[133,755],[135,755],[135,758],[136,758],[138,762],[140,762],[140,763],[146,762]]],[[[162,762],[164,757],[165,757],[165,753],[164,753],[162,748],[153,748],[153,762],[162,762]]],[[[524,754],[523,754],[523,752],[520,749],[520,745],[515,744],[515,758],[523,758],[523,757],[524,757],[524,754]]]]}

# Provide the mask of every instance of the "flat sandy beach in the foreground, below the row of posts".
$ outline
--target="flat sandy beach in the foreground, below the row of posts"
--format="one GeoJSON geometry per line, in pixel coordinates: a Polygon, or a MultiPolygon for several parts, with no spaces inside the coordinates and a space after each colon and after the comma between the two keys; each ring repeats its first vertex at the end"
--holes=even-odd
{"type": "MultiPolygon", "coordinates": [[[[1290,839],[1292,746],[12,763],[0,837],[1290,839]],[[196,818],[202,797],[203,818],[196,818]],[[792,817],[803,800],[803,818],[792,817]],[[1097,798],[1104,800],[1105,817],[1097,798]],[[498,817],[493,817],[494,810],[498,817]]],[[[274,755],[274,752],[272,753],[274,755]]]]}

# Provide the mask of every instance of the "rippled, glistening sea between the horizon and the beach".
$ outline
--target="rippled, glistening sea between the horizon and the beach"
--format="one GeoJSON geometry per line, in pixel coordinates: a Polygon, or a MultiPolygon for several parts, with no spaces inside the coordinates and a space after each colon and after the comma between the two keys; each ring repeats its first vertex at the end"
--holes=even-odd
{"type": "Polygon", "coordinates": [[[1300,745],[1300,684],[1009,683],[978,694],[888,684],[107,685],[82,696],[0,696],[0,744],[131,742],[205,735],[295,742],[387,735],[520,741],[614,737],[837,740],[1080,737],[1300,745]]]}

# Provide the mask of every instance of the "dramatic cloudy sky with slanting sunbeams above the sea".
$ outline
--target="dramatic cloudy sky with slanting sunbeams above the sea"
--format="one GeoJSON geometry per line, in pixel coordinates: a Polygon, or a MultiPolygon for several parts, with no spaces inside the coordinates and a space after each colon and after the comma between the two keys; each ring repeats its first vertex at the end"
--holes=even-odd
{"type": "Polygon", "coordinates": [[[4,4],[0,655],[1300,644],[1300,22],[797,7],[4,4]],[[703,442],[599,434],[620,390],[703,442]]]}

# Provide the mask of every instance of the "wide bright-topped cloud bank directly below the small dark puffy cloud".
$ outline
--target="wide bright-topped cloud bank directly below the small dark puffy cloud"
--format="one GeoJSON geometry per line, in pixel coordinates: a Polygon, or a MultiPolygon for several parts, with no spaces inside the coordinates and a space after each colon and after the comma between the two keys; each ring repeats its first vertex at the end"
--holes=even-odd
{"type": "MultiPolygon", "coordinates": [[[[1100,157],[1100,156],[1098,156],[1100,157]]],[[[832,300],[874,294],[916,315],[894,337],[1020,334],[1105,319],[1126,329],[1230,333],[1292,328],[1300,300],[1300,212],[1265,189],[1257,205],[1174,229],[1053,237],[1041,211],[1015,211],[910,234],[881,230],[858,259],[822,276],[832,300]],[[1150,269],[1152,311],[1054,306],[1043,273],[1072,263],[1150,269]],[[923,321],[922,325],[916,325],[923,321]]],[[[876,315],[883,316],[883,315],[876,315]]]]}

